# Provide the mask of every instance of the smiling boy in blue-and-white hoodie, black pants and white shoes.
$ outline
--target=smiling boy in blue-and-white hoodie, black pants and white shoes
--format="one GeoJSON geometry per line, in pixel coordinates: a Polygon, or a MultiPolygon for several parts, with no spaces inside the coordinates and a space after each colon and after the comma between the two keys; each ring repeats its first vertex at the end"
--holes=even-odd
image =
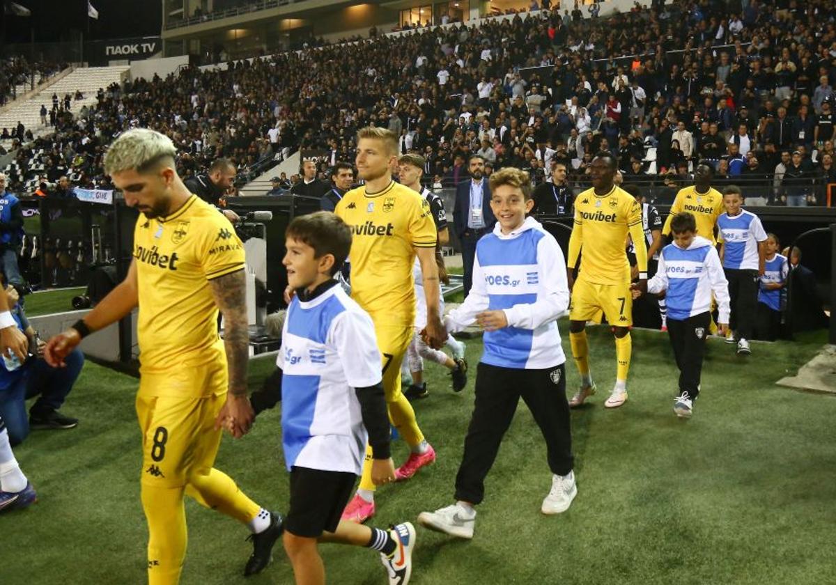
{"type": "Polygon", "coordinates": [[[543,432],[553,473],[541,511],[565,511],[578,493],[566,358],[556,322],[569,302],[566,275],[557,269],[563,266],[563,252],[538,221],[526,218],[534,203],[528,173],[506,168],[491,175],[490,182],[497,225],[477,244],[470,294],[445,320],[451,332],[474,322],[485,330],[456,503],[418,516],[422,526],[461,538],[473,537],[474,506],[482,502],[485,477],[521,396],[543,432]]]}

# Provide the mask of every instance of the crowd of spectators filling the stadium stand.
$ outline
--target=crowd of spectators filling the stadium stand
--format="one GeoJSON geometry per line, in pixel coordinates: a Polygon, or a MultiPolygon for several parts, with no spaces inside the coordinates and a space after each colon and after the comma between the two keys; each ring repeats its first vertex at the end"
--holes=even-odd
{"type": "Polygon", "coordinates": [[[356,130],[383,125],[426,157],[435,185],[466,179],[474,154],[537,183],[560,160],[583,184],[598,150],[618,155],[630,181],[669,190],[701,159],[775,203],[821,204],[836,181],[832,2],[655,0],[608,18],[525,16],[113,86],[93,108],[62,112],[56,134],[18,160],[43,150],[48,174],[107,186],[105,145],[138,125],[171,135],[186,177],[218,156],[244,169],[301,147],[329,152],[327,180],[327,165],[354,160],[356,130]]]}

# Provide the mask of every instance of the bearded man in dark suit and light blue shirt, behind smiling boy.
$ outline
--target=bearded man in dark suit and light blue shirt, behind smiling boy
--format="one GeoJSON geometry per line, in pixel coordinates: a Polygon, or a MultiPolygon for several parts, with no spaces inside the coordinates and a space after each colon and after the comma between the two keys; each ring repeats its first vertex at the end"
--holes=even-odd
{"type": "Polygon", "coordinates": [[[453,206],[453,223],[461,242],[465,296],[472,285],[476,242],[492,231],[497,222],[491,211],[491,187],[485,180],[485,160],[478,155],[471,156],[468,170],[471,178],[456,185],[456,204],[453,206]]]}

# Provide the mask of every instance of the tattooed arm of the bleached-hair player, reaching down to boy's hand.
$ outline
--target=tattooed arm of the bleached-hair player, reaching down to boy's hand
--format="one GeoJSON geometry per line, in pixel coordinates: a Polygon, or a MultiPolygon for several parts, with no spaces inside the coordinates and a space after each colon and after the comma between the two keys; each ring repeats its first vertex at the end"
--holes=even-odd
{"type": "Polygon", "coordinates": [[[209,281],[212,296],[223,315],[223,345],[227,350],[229,393],[216,425],[227,425],[236,438],[246,435],[254,415],[247,398],[247,281],[243,270],[209,281]]]}

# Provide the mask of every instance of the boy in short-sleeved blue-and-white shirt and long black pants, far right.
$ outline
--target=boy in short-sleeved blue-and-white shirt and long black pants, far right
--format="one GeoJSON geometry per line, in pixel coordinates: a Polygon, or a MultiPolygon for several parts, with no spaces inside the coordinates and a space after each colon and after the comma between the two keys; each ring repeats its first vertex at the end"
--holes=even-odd
{"type": "Polygon", "coordinates": [[[730,185],[723,190],[726,212],[717,218],[717,242],[720,242],[720,258],[732,298],[726,343],[737,341],[737,355],[749,355],[752,353],[749,339],[754,333],[757,313],[758,279],[763,276],[766,262],[767,232],[761,220],[742,209],[742,204],[740,187],[730,185]]]}

